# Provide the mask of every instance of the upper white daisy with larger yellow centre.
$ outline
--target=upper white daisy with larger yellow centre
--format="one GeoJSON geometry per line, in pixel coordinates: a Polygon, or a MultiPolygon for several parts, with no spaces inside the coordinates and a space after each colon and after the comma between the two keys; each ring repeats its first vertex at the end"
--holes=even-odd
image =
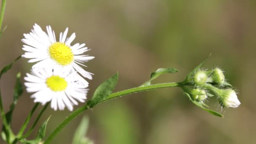
{"type": "MultiPolygon", "coordinates": [[[[93,59],[93,56],[81,55],[86,51],[89,51],[85,44],[76,43],[71,45],[75,39],[75,33],[70,37],[67,37],[68,28],[60,33],[59,41],[56,41],[55,33],[50,26],[47,26],[47,33],[44,32],[41,27],[35,24],[29,34],[24,34],[24,39],[21,41],[26,45],[23,45],[25,52],[22,57],[30,59],[28,62],[38,62],[34,67],[49,67],[59,68],[69,73],[78,72],[83,77],[92,79],[93,75],[90,72],[85,71],[80,65],[88,60],[93,59]]],[[[85,66],[86,67],[86,66],[85,66]]],[[[88,84],[82,77],[79,80],[88,84]]]]}

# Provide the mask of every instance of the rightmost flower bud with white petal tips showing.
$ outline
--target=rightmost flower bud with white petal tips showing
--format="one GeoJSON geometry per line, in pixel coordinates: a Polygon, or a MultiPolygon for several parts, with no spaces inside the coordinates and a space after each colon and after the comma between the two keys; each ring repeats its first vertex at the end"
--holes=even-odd
{"type": "Polygon", "coordinates": [[[222,107],[236,108],[241,104],[240,101],[237,99],[237,94],[235,93],[234,90],[220,90],[218,96],[219,103],[221,104],[222,107]]]}

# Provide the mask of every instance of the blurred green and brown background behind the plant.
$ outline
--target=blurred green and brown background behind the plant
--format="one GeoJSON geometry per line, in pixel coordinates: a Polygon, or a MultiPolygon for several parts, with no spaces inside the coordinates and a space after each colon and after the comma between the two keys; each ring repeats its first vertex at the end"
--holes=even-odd
{"type": "MultiPolygon", "coordinates": [[[[0,67],[24,53],[21,39],[35,23],[44,30],[51,25],[56,35],[69,27],[69,35],[77,35],[73,44],[91,48],[87,54],[95,59],[86,70],[95,75],[89,80],[88,98],[117,71],[115,91],[144,83],[160,67],[175,67],[179,72],[162,75],[154,83],[181,81],[212,53],[204,67],[224,69],[242,103],[221,111],[211,99],[211,108],[224,118],[196,107],[179,88],[164,88],[123,96],[86,111],[90,118],[86,136],[95,144],[254,144],[255,15],[255,0],[8,0],[0,67]]],[[[24,77],[31,66],[21,59],[3,75],[5,110],[12,101],[16,73],[21,71],[24,77]]],[[[29,96],[24,92],[16,106],[14,132],[34,105],[29,96]]],[[[52,115],[48,136],[69,113],[48,107],[39,124],[52,115]]],[[[81,116],[69,123],[52,144],[71,144],[80,120],[81,116]]]]}

